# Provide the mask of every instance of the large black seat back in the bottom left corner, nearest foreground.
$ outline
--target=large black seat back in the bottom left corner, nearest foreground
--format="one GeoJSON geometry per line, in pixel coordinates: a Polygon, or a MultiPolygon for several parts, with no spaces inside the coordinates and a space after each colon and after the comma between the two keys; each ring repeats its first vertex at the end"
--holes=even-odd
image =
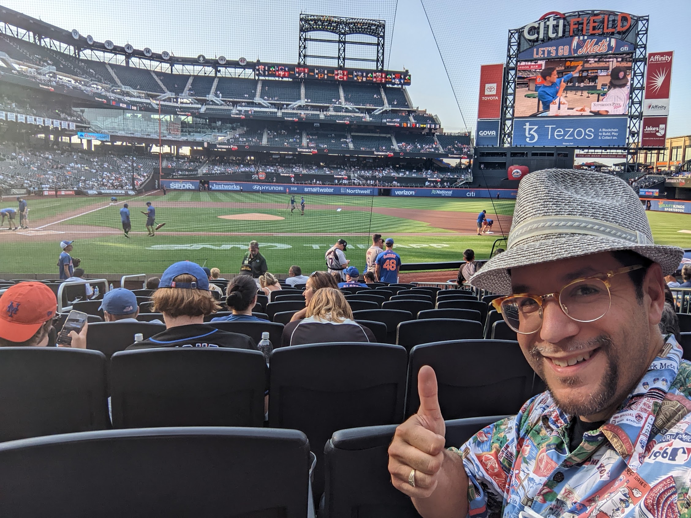
{"type": "Polygon", "coordinates": [[[105,430],[6,443],[0,513],[303,518],[312,510],[311,457],[302,432],[263,428],[105,430]]]}

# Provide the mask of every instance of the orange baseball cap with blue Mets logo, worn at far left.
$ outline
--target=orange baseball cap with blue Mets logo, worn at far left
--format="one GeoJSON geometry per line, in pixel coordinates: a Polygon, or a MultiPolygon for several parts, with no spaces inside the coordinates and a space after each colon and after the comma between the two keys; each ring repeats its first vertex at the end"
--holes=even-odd
{"type": "Polygon", "coordinates": [[[57,301],[43,282],[19,282],[0,297],[0,338],[24,342],[55,316],[57,301]]]}

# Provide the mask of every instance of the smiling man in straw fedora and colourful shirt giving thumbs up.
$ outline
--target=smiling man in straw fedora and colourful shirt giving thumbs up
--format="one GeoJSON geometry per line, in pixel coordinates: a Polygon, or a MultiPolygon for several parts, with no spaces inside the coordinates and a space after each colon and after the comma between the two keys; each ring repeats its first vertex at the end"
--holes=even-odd
{"type": "Polygon", "coordinates": [[[470,282],[504,295],[493,305],[549,390],[445,450],[422,367],[419,410],[389,448],[394,486],[425,518],[689,517],[691,363],[659,330],[681,256],[654,244],[623,180],[524,178],[507,251],[470,282]]]}

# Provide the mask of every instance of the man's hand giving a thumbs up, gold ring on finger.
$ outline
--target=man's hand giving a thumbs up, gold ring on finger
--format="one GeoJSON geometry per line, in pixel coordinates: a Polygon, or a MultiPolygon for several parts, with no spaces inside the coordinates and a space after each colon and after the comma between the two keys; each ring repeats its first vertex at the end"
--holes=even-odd
{"type": "Polygon", "coordinates": [[[396,428],[388,450],[388,468],[395,488],[410,497],[426,498],[437,488],[446,432],[432,367],[424,365],[419,370],[417,391],[420,407],[417,414],[396,428]]]}

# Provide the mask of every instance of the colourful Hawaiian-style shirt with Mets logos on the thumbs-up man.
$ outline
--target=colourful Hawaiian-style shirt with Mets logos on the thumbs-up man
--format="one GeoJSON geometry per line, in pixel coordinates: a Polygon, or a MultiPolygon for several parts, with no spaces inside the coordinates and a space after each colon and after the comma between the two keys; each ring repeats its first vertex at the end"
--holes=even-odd
{"type": "Polygon", "coordinates": [[[619,410],[573,452],[573,417],[549,392],[453,448],[470,480],[468,516],[691,518],[691,363],[681,356],[668,336],[619,410]]]}

